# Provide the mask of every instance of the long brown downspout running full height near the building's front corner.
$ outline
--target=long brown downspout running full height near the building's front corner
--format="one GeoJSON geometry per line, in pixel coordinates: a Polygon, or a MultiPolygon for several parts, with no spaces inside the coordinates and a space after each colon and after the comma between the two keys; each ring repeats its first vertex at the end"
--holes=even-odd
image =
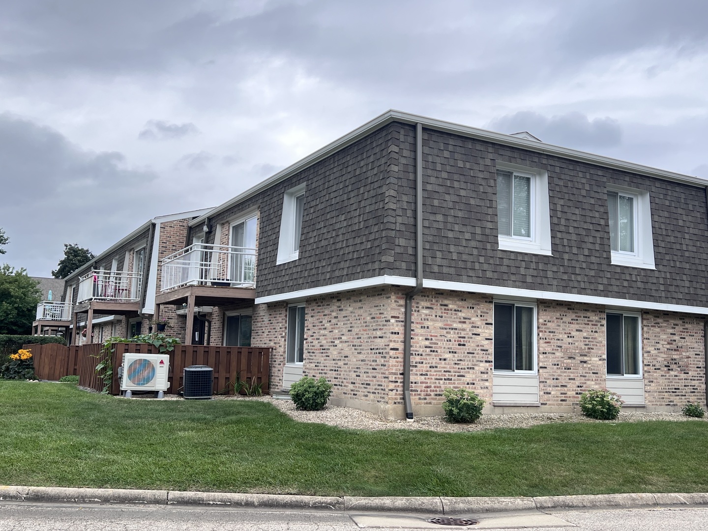
{"type": "Polygon", "coordinates": [[[423,291],[423,125],[416,124],[416,287],[406,293],[403,346],[403,398],[406,420],[413,422],[411,404],[411,328],[413,297],[423,291]]]}

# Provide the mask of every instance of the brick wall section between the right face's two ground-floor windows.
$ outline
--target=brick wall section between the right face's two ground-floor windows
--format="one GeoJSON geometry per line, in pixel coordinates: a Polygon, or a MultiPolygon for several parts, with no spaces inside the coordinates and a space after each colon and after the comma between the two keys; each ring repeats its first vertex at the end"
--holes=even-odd
{"type": "Polygon", "coordinates": [[[605,307],[539,301],[537,312],[542,406],[572,406],[588,389],[604,389],[605,307]]]}

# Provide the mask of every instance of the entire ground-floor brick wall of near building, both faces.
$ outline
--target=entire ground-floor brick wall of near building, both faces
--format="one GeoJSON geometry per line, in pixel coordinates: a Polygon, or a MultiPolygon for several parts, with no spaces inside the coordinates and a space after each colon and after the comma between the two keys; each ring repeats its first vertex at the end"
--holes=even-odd
{"type": "MultiPolygon", "coordinates": [[[[307,300],[303,372],[333,384],[333,404],[402,416],[406,289],[381,287],[307,300]]],[[[690,314],[643,313],[650,409],[688,400],[705,404],[703,323],[690,314]]],[[[271,389],[282,385],[286,331],[287,304],[255,307],[253,345],[274,348],[271,389]]],[[[474,390],[491,405],[492,340],[491,296],[439,290],[417,295],[411,335],[415,415],[440,414],[446,387],[474,390]]],[[[542,408],[577,410],[583,392],[606,386],[605,307],[539,300],[537,351],[542,408]]]]}

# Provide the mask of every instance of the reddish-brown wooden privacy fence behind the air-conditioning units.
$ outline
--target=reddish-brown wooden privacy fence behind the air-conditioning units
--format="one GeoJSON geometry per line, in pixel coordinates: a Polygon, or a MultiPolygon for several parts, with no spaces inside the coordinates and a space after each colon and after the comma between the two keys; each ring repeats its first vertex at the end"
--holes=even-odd
{"type": "MultiPolygon", "coordinates": [[[[47,345],[25,345],[32,350],[35,360],[35,373],[40,379],[57,380],[65,375],[79,375],[79,385],[103,390],[103,379],[96,375],[96,365],[105,353],[101,343],[72,345],[65,347],[57,343],[47,345]]],[[[113,382],[110,393],[120,393],[118,367],[122,364],[123,354],[159,354],[159,349],[147,343],[114,343],[111,354],[113,364],[113,382]]],[[[268,392],[270,372],[270,348],[177,345],[169,353],[169,394],[181,391],[184,367],[190,365],[208,365],[214,369],[214,393],[234,392],[236,382],[256,382],[261,384],[263,392],[268,392]]]]}

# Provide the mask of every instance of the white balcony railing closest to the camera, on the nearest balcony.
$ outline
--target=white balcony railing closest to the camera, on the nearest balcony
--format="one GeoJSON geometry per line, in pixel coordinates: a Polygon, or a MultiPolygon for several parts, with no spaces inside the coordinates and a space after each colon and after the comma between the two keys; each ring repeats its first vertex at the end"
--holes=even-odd
{"type": "Polygon", "coordinates": [[[160,289],[189,285],[252,287],[256,280],[256,249],[193,244],[162,260],[160,289]]]}

